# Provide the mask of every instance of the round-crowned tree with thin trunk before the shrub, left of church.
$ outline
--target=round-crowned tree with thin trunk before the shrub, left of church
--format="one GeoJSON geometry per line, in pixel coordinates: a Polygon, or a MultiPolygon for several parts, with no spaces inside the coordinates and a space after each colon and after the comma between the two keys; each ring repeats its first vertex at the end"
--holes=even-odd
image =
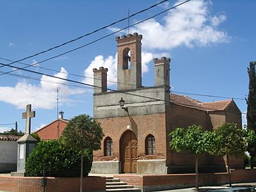
{"type": "Polygon", "coordinates": [[[81,152],[80,191],[83,191],[83,152],[100,149],[100,141],[104,134],[100,124],[89,115],[72,118],[62,132],[61,142],[69,148],[81,152]]]}

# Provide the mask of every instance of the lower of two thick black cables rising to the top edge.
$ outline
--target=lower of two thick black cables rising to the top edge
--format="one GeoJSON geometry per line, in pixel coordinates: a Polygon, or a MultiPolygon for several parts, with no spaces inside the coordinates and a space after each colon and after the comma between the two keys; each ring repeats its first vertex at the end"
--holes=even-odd
{"type": "MultiPolygon", "coordinates": [[[[54,58],[58,58],[59,56],[63,56],[63,55],[65,55],[65,54],[68,54],[68,53],[73,52],[73,51],[77,51],[78,49],[81,49],[81,48],[83,48],[83,47],[86,47],[86,46],[88,46],[88,45],[91,45],[91,44],[93,44],[93,43],[95,43],[95,42],[98,42],[99,40],[102,40],[102,39],[104,39],[104,38],[107,38],[108,36],[111,36],[111,35],[114,35],[114,34],[120,32],[120,31],[123,31],[124,29],[127,29],[127,28],[132,27],[132,26],[136,26],[136,25],[138,25],[138,24],[140,24],[140,23],[142,23],[142,22],[145,22],[146,20],[152,19],[152,18],[154,18],[154,17],[156,17],[156,16],[158,16],[158,15],[161,15],[162,13],[168,12],[169,10],[172,10],[173,8],[177,8],[178,6],[180,6],[180,5],[184,4],[184,3],[188,3],[189,1],[191,1],[191,0],[184,1],[183,3],[180,3],[180,4],[177,4],[177,5],[175,5],[175,6],[172,6],[171,8],[168,8],[168,9],[164,10],[163,12],[159,12],[159,13],[157,13],[156,15],[153,15],[153,16],[151,16],[151,17],[148,17],[147,19],[141,20],[140,22],[136,22],[135,24],[132,24],[132,25],[127,26],[127,27],[125,27],[125,28],[119,29],[119,30],[117,30],[117,31],[115,31],[115,32],[113,32],[113,33],[109,33],[108,35],[102,36],[102,37],[100,37],[100,38],[97,38],[96,40],[93,40],[92,42],[90,42],[90,43],[88,43],[88,44],[81,45],[80,47],[77,47],[77,48],[75,48],[75,49],[71,49],[70,51],[63,52],[63,53],[58,54],[58,55],[56,55],[56,56],[52,56],[51,58],[48,58],[48,59],[43,60],[43,61],[39,61],[39,62],[37,62],[37,63],[35,63],[35,64],[29,65],[29,66],[26,66],[26,67],[22,67],[22,68],[19,68],[19,69],[15,69],[15,70],[12,70],[12,71],[9,71],[9,72],[5,72],[5,73],[3,73],[3,74],[0,74],[0,76],[3,76],[4,74],[8,74],[8,73],[10,73],[10,72],[14,72],[14,71],[16,71],[16,70],[28,68],[28,67],[30,67],[30,66],[37,65],[37,64],[39,64],[39,63],[44,63],[45,61],[49,61],[49,60],[52,60],[52,59],[54,59],[54,58]]],[[[131,16],[130,16],[130,17],[131,17],[131,16]]],[[[22,59],[22,60],[24,60],[24,59],[22,59]]],[[[17,62],[22,61],[22,60],[18,60],[17,62]]],[[[16,63],[17,63],[17,62],[16,62],[16,63]]],[[[12,64],[13,64],[13,63],[9,63],[8,65],[6,64],[5,66],[11,67],[12,64]]]]}

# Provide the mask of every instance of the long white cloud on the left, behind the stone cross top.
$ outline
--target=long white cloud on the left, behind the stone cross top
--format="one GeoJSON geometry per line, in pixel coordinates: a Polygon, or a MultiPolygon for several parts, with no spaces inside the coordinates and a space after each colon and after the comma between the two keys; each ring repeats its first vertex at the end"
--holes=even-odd
{"type": "Polygon", "coordinates": [[[26,104],[32,104],[33,109],[52,109],[56,107],[57,88],[59,90],[61,102],[74,102],[68,99],[69,95],[82,93],[83,90],[70,89],[65,84],[67,79],[67,71],[61,68],[61,71],[55,77],[63,79],[55,79],[54,77],[42,76],[40,84],[35,85],[27,81],[21,81],[14,87],[0,86],[0,100],[13,104],[18,109],[23,109],[26,104]],[[61,73],[65,72],[65,73],[61,73]]]}

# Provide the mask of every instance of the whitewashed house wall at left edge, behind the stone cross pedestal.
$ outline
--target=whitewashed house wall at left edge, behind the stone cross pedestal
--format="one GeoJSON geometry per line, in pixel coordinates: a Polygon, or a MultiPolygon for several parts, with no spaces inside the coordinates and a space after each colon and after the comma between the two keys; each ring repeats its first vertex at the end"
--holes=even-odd
{"type": "Polygon", "coordinates": [[[17,141],[0,140],[0,173],[17,170],[17,141]]]}

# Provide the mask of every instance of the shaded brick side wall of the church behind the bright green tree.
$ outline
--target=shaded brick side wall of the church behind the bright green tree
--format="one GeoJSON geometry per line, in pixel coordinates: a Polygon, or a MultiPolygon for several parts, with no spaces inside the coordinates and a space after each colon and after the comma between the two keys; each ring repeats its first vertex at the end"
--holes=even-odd
{"type": "MultiPolygon", "coordinates": [[[[190,125],[201,125],[204,130],[212,129],[207,113],[195,108],[188,108],[174,104],[173,107],[166,111],[166,116],[168,125],[166,127],[167,135],[177,127],[186,129],[190,125]]],[[[169,147],[170,136],[168,136],[166,141],[166,146],[168,147],[166,162],[166,164],[168,164],[168,173],[195,172],[195,156],[189,152],[178,153],[171,150],[169,147]]],[[[206,154],[202,154],[200,156],[199,168],[201,172],[206,172],[206,170],[204,170],[208,164],[206,157],[206,154]]]]}

